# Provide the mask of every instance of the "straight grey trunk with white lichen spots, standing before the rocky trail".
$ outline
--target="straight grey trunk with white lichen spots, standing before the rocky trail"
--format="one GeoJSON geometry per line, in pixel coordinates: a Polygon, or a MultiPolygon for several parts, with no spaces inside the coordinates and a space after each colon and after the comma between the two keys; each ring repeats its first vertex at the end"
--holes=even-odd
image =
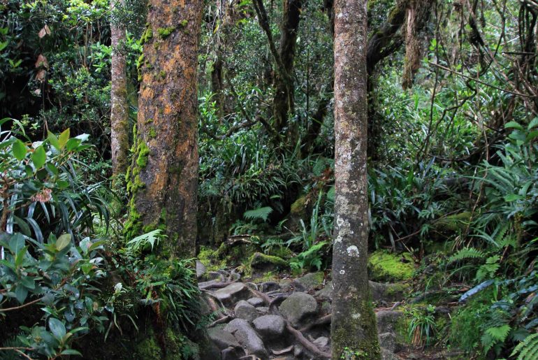
{"type": "Polygon", "coordinates": [[[335,0],[333,359],[380,359],[368,287],[366,0],[335,0]]]}

